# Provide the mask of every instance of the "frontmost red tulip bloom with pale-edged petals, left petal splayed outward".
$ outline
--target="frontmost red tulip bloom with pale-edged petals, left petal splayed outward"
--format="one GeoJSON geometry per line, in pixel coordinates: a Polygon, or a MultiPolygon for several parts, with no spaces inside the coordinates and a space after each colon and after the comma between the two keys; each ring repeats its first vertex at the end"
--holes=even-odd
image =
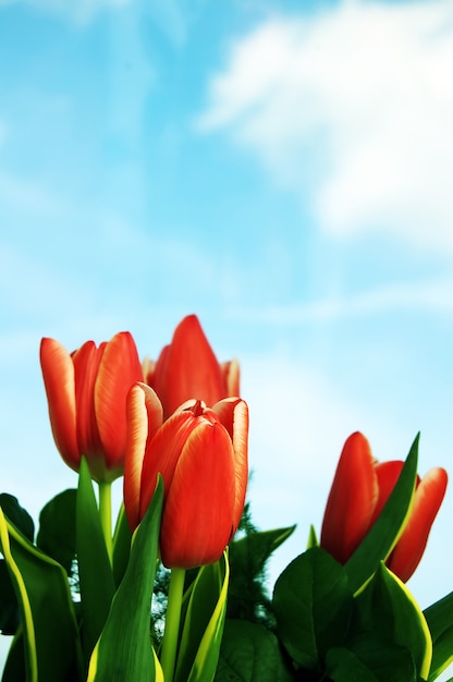
{"type": "Polygon", "coordinates": [[[164,501],[160,552],[168,568],[217,561],[241,520],[247,486],[248,409],[238,399],[206,407],[187,401],[162,424],[156,393],[137,383],[127,399],[124,504],[131,527],[143,519],[157,475],[164,501]]]}

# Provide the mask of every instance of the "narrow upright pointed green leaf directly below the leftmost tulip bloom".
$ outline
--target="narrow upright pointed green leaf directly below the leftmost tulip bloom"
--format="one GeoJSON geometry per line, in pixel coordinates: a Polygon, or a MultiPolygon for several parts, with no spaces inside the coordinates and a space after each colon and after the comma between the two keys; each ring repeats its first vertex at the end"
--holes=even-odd
{"type": "Polygon", "coordinates": [[[114,594],[113,573],[85,458],[81,460],[76,499],[76,547],[85,660],[102,631],[114,594]]]}

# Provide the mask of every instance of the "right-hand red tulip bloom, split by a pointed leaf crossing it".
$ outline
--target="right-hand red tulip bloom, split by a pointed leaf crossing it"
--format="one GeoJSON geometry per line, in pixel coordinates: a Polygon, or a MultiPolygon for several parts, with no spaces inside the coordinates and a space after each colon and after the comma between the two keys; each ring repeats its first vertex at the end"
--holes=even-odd
{"type": "MultiPolygon", "coordinates": [[[[321,531],[323,547],[345,563],[378,519],[403,462],[377,462],[365,436],[355,433],[346,440],[327,502],[321,531]]],[[[431,525],[446,489],[446,472],[431,468],[417,476],[413,506],[403,533],[385,564],[403,582],[417,568],[431,525]]]]}

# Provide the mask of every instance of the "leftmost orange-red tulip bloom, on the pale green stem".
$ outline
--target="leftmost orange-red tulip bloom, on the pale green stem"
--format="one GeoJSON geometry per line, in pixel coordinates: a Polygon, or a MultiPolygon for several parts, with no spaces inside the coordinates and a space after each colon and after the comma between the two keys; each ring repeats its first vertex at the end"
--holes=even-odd
{"type": "Polygon", "coordinates": [[[143,380],[132,336],[117,333],[99,348],[87,341],[71,354],[54,339],[42,339],[40,362],[53,438],[63,460],[78,471],[85,455],[98,482],[121,476],[126,395],[143,380]]]}

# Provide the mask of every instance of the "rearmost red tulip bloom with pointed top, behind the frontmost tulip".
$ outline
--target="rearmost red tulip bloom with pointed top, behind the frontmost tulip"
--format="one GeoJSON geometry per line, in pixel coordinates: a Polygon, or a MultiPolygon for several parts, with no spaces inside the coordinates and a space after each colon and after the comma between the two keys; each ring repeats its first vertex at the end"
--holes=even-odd
{"type": "Polygon", "coordinates": [[[144,374],[145,381],[159,395],[166,418],[192,398],[211,406],[223,398],[240,394],[237,362],[218,362],[196,315],[188,315],[179,324],[158,361],[145,362],[144,374]]]}

